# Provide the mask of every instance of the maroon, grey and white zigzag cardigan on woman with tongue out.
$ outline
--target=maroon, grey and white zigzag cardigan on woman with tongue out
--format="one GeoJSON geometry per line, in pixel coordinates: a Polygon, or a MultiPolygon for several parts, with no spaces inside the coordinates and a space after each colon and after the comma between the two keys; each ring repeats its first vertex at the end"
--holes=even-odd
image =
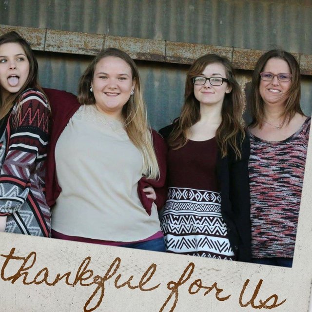
{"type": "Polygon", "coordinates": [[[7,215],[5,232],[50,236],[51,213],[44,195],[49,116],[43,94],[28,89],[1,136],[0,215],[7,215]]]}

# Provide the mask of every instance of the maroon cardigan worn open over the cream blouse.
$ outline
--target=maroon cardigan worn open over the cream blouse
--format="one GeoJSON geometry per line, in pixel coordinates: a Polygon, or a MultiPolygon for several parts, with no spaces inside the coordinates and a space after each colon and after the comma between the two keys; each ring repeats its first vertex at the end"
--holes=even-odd
{"type": "MultiPolygon", "coordinates": [[[[69,119],[76,113],[80,104],[77,100],[77,97],[72,93],[56,89],[44,88],[43,90],[50,101],[52,110],[52,122],[45,176],[46,199],[48,205],[52,207],[61,192],[56,175],[55,147],[60,134],[65,129],[69,119]]],[[[153,199],[146,197],[145,193],[143,192],[143,188],[147,186],[152,186],[154,188],[157,196],[155,203],[158,210],[161,209],[164,205],[167,195],[167,190],[165,187],[167,148],[163,138],[155,130],[152,130],[152,134],[160,177],[158,180],[150,180],[142,177],[139,180],[137,187],[137,192],[141,203],[149,215],[151,215],[153,199]]]]}

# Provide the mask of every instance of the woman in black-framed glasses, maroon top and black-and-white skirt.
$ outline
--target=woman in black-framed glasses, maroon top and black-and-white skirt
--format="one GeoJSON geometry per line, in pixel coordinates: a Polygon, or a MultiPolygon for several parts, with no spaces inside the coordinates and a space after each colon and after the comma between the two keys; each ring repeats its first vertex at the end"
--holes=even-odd
{"type": "Polygon", "coordinates": [[[160,130],[168,151],[161,228],[167,252],[249,261],[249,139],[233,66],[207,54],[187,73],[181,116],[160,130]]]}

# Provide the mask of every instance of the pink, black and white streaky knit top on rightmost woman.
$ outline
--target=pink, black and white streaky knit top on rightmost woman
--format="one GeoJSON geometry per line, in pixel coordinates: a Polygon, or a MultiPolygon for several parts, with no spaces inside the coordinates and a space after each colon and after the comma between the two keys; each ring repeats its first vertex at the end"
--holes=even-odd
{"type": "Polygon", "coordinates": [[[250,136],[252,256],[292,258],[311,117],[283,141],[250,136]]]}

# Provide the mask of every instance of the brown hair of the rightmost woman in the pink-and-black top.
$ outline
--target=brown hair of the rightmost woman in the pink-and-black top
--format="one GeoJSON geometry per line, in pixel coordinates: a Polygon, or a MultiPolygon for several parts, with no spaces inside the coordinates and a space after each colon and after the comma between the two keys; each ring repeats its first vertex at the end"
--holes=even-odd
{"type": "Polygon", "coordinates": [[[287,62],[291,74],[291,86],[288,90],[284,114],[283,114],[283,121],[289,122],[292,117],[299,113],[304,115],[300,107],[300,67],[296,59],[290,54],[289,52],[274,49],[264,53],[257,61],[253,80],[252,80],[252,90],[248,101],[248,107],[250,111],[250,115],[252,117],[251,126],[259,126],[262,127],[263,119],[264,119],[264,101],[261,98],[259,85],[260,85],[260,73],[263,72],[263,69],[269,59],[276,58],[276,59],[283,59],[287,62]]]}

